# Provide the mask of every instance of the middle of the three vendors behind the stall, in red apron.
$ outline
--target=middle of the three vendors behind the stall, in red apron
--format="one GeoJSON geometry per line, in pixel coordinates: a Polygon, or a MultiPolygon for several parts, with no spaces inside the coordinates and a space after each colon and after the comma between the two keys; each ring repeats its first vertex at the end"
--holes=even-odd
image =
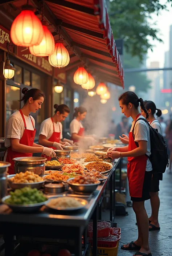
{"type": "MultiPolygon", "coordinates": [[[[51,149],[63,149],[65,146],[73,145],[73,141],[63,139],[62,141],[62,121],[69,115],[70,109],[67,105],[54,105],[56,109],[54,115],[41,123],[39,133],[39,143],[51,149]]],[[[43,156],[43,155],[42,155],[43,156]]],[[[50,160],[51,157],[48,158],[50,160]]]]}

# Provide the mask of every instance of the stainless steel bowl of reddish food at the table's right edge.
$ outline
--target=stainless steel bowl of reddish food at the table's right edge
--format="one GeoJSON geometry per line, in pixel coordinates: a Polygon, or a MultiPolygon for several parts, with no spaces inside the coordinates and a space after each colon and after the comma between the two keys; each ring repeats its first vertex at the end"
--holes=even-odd
{"type": "Polygon", "coordinates": [[[76,184],[72,183],[74,178],[70,178],[67,180],[67,183],[71,187],[71,189],[75,192],[83,192],[83,193],[90,193],[97,189],[98,185],[101,183],[98,181],[96,184],[76,184]]]}

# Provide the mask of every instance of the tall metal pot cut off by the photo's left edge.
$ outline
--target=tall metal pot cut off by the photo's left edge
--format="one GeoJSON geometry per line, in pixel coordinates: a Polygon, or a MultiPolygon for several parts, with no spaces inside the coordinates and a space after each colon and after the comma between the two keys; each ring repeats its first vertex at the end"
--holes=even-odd
{"type": "Polygon", "coordinates": [[[0,203],[1,199],[7,195],[7,171],[11,163],[0,161],[0,203]]]}

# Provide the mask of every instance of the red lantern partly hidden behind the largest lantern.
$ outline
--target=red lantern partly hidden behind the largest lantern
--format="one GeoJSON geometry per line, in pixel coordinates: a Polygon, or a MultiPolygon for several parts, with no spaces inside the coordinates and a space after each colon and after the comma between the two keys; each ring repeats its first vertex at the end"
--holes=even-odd
{"type": "Polygon", "coordinates": [[[54,37],[46,26],[46,21],[42,21],[43,25],[43,38],[39,45],[30,46],[30,53],[34,56],[49,56],[52,55],[55,48],[54,37]]]}

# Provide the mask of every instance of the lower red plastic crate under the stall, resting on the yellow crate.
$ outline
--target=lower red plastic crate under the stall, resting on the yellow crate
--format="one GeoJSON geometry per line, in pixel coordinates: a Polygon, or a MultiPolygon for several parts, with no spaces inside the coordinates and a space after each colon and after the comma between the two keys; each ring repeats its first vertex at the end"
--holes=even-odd
{"type": "MultiPolygon", "coordinates": [[[[99,237],[97,239],[97,246],[98,247],[103,247],[103,248],[116,247],[119,240],[120,240],[120,235],[119,234],[109,235],[107,237],[99,237]]],[[[89,243],[91,244],[91,246],[93,246],[93,239],[92,238],[89,238],[89,243]]]]}

